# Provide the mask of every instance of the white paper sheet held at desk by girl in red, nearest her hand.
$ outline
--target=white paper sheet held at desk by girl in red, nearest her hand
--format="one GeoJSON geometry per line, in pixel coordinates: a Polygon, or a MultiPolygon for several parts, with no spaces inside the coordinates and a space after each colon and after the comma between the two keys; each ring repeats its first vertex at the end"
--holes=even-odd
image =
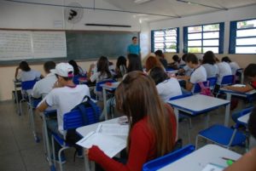
{"type": "Polygon", "coordinates": [[[126,141],[119,137],[91,132],[76,144],[84,148],[97,145],[108,157],[114,157],[125,148],[126,141]]]}

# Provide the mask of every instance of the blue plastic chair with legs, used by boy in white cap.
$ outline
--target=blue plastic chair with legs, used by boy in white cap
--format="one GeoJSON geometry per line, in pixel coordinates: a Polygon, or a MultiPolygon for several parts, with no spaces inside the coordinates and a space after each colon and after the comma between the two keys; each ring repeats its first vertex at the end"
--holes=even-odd
{"type": "MultiPolygon", "coordinates": [[[[96,113],[101,113],[100,107],[97,107],[96,110],[99,110],[96,113]]],[[[82,114],[80,113],[79,110],[75,111],[70,111],[64,114],[63,116],[63,129],[73,129],[73,128],[79,128],[85,125],[90,125],[93,123],[98,123],[99,122],[99,117],[100,116],[95,116],[95,113],[91,107],[86,108],[86,115],[87,115],[87,123],[84,123],[84,119],[82,117],[82,114]]],[[[55,162],[55,145],[54,145],[54,140],[61,145],[61,150],[58,151],[58,157],[61,159],[61,151],[64,151],[71,146],[66,143],[65,140],[63,140],[58,134],[52,134],[51,136],[52,140],[52,151],[53,151],[53,156],[54,156],[54,162],[55,162]]],[[[62,171],[62,164],[60,162],[60,169],[62,171]]]]}

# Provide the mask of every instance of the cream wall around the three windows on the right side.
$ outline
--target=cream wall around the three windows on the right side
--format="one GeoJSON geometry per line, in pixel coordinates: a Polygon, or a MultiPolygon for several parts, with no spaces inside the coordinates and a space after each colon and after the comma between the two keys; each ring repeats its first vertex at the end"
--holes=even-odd
{"type": "MultiPolygon", "coordinates": [[[[155,22],[150,22],[149,27],[151,30],[158,30],[163,28],[180,28],[180,50],[182,53],[183,49],[183,26],[195,26],[202,24],[211,24],[217,22],[224,22],[224,54],[217,54],[220,59],[224,55],[230,56],[231,60],[236,60],[236,62],[241,67],[246,67],[249,63],[256,63],[256,54],[228,54],[229,52],[229,41],[230,41],[230,21],[231,20],[244,20],[256,18],[256,5],[251,5],[247,7],[229,9],[224,11],[218,11],[210,14],[198,14],[188,17],[183,17],[181,19],[173,20],[160,20],[155,22]]],[[[172,61],[173,54],[166,54],[167,60],[172,61]]],[[[181,56],[182,54],[180,54],[181,56]]],[[[198,54],[201,55],[201,54],[198,54]]]]}

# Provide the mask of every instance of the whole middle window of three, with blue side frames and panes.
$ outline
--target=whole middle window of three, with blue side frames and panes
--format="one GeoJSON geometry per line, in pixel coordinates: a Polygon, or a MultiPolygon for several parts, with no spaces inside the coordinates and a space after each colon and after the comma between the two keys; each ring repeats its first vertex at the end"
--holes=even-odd
{"type": "Polygon", "coordinates": [[[184,53],[223,54],[224,23],[183,27],[184,53]]]}

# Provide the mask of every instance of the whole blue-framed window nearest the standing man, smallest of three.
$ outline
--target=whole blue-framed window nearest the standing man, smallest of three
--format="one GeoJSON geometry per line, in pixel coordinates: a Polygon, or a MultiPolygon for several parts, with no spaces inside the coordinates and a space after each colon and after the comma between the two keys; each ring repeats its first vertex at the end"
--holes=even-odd
{"type": "Polygon", "coordinates": [[[151,50],[178,53],[178,28],[151,31],[151,50]]]}

